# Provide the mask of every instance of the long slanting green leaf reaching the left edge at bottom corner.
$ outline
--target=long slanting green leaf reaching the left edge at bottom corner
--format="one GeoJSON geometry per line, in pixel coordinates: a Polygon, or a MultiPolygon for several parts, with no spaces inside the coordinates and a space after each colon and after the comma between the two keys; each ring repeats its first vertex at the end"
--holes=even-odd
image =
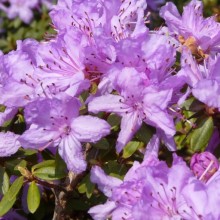
{"type": "Polygon", "coordinates": [[[0,202],[0,216],[5,215],[14,205],[16,197],[23,186],[24,178],[23,176],[17,178],[9,190],[5,193],[4,197],[0,202]]]}

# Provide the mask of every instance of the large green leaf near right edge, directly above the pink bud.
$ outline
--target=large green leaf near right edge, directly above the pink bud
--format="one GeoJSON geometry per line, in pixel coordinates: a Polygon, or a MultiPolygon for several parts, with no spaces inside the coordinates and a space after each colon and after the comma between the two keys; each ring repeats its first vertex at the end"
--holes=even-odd
{"type": "Polygon", "coordinates": [[[214,129],[212,117],[202,117],[190,139],[190,147],[193,151],[204,151],[214,129]]]}

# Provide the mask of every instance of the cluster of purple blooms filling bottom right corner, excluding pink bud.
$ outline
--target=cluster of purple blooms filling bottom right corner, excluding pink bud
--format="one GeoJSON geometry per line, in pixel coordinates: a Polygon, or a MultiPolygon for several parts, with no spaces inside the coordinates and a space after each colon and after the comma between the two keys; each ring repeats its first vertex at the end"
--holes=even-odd
{"type": "Polygon", "coordinates": [[[158,144],[158,138],[154,136],[147,146],[142,164],[134,162],[123,181],[105,177],[98,167],[92,169],[91,180],[108,197],[105,204],[89,210],[95,220],[199,220],[220,217],[217,208],[219,170],[204,183],[176,155],[171,167],[159,161],[156,156],[158,144]]]}

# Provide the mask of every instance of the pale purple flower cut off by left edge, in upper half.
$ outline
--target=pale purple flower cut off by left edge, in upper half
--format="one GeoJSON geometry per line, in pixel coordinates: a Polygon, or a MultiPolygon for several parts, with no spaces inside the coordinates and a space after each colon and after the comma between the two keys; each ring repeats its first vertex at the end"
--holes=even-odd
{"type": "Polygon", "coordinates": [[[34,74],[38,42],[27,39],[17,42],[17,50],[4,55],[0,77],[0,103],[7,107],[21,107],[38,97],[35,89],[40,82],[34,74]]]}

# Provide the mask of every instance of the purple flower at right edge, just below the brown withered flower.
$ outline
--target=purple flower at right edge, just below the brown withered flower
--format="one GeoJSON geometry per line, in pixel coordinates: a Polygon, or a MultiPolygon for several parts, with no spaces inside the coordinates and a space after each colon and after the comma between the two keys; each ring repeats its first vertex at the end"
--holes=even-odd
{"type": "Polygon", "coordinates": [[[209,57],[204,65],[197,64],[188,50],[183,50],[181,75],[192,87],[192,94],[209,107],[220,108],[220,57],[209,57]]]}

